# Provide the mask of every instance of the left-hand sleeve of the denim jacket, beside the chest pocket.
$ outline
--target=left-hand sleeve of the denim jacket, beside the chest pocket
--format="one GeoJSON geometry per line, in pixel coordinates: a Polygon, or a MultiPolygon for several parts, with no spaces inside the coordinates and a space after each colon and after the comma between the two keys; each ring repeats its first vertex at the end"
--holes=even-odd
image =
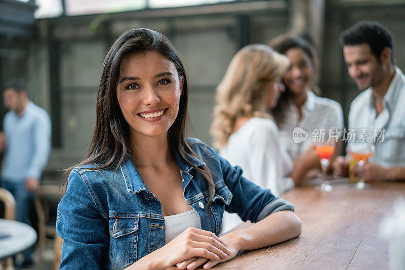
{"type": "Polygon", "coordinates": [[[64,240],[59,269],[103,269],[108,259],[106,220],[88,182],[72,171],[58,205],[56,232],[64,240]]]}

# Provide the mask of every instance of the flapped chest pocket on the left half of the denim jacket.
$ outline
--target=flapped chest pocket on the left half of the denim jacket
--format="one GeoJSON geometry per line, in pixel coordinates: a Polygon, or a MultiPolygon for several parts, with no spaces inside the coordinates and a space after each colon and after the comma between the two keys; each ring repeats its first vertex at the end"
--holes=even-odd
{"type": "Polygon", "coordinates": [[[113,269],[123,269],[137,260],[139,218],[110,217],[109,255],[113,269]]]}

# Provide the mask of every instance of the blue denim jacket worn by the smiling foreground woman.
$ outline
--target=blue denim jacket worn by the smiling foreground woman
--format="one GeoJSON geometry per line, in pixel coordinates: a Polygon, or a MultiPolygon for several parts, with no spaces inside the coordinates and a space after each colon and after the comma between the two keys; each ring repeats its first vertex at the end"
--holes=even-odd
{"type": "MultiPolygon", "coordinates": [[[[206,179],[175,153],[183,177],[183,196],[200,216],[201,229],[219,234],[224,210],[257,222],[270,213],[294,210],[289,202],[242,177],[218,153],[197,139],[188,143],[207,165],[215,196],[207,209],[206,179]]],[[[170,192],[170,187],[168,187],[170,192]]],[[[64,239],[60,269],[123,269],[165,245],[165,220],[157,197],[145,186],[131,158],[117,169],[92,165],[70,173],[66,194],[58,206],[56,228],[64,239]]]]}

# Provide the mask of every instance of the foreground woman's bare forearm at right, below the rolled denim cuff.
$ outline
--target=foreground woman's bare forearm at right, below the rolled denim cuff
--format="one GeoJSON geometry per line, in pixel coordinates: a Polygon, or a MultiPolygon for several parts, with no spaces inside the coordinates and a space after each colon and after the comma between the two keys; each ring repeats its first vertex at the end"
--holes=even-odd
{"type": "Polygon", "coordinates": [[[226,234],[239,250],[252,250],[277,244],[301,234],[301,220],[292,211],[279,211],[249,227],[226,234]]]}

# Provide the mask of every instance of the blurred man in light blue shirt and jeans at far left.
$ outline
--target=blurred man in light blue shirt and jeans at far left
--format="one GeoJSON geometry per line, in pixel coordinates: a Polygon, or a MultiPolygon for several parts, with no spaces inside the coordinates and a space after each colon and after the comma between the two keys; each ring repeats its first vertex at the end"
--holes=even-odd
{"type": "MultiPolygon", "coordinates": [[[[48,113],[27,96],[24,79],[12,79],[3,88],[4,105],[10,110],[3,119],[0,151],[3,152],[1,187],[16,199],[16,220],[30,224],[33,192],[47,165],[51,149],[51,120],[48,113]]],[[[24,262],[32,262],[30,252],[24,262]]]]}

